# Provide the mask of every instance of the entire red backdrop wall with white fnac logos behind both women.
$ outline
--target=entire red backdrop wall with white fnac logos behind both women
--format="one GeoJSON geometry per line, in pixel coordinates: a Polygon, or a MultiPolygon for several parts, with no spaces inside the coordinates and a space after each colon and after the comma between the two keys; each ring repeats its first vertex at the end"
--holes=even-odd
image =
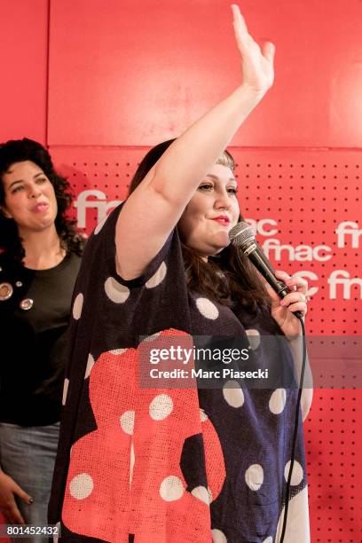
{"type": "MultiPolygon", "coordinates": [[[[1,6],[0,138],[50,147],[74,185],[73,212],[86,232],[125,198],[148,146],[177,136],[240,83],[226,0],[1,6]]],[[[311,539],[355,543],[362,4],[245,0],[242,10],[256,39],[276,43],[277,59],[274,87],[232,141],[240,207],[271,262],[310,280],[307,331],[318,345],[318,388],[304,425],[311,539]],[[337,356],[322,336],[348,348],[337,356]]]]}

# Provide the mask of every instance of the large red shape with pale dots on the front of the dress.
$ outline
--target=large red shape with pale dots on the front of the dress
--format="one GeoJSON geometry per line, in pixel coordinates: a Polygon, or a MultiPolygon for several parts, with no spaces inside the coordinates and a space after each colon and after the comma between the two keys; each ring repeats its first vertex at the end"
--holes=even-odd
{"type": "MultiPolygon", "coordinates": [[[[172,329],[157,342],[170,335],[188,338],[193,347],[188,334],[172,329]]],[[[63,523],[75,533],[114,543],[128,543],[129,534],[138,543],[210,543],[209,505],[185,492],[179,465],[185,439],[202,432],[208,484],[216,499],[224,484],[224,457],[211,422],[201,423],[196,386],[141,390],[138,350],[114,352],[103,353],[91,370],[98,429],[72,447],[63,523]],[[133,432],[126,412],[135,413],[133,432]]]]}

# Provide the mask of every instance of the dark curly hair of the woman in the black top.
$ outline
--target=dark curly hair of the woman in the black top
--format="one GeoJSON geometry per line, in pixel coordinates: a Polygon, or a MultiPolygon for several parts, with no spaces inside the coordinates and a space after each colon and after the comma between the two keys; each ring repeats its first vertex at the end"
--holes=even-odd
{"type": "MultiPolygon", "coordinates": [[[[67,210],[73,201],[73,193],[67,179],[59,176],[55,171],[48,151],[32,139],[11,139],[0,144],[0,207],[4,206],[4,183],[3,176],[15,162],[32,161],[51,181],[54,187],[55,197],[58,204],[58,214],[55,218],[60,245],[67,253],[74,252],[81,255],[83,251],[83,237],[76,232],[75,220],[67,217],[67,210]]],[[[0,248],[9,251],[12,256],[23,260],[24,248],[21,244],[17,224],[13,219],[7,218],[0,213],[0,248]]]]}

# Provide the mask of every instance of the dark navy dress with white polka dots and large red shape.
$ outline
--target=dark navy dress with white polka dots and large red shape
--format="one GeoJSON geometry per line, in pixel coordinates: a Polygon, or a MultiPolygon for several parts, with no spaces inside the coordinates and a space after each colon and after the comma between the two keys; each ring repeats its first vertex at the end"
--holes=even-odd
{"type": "MultiPolygon", "coordinates": [[[[258,366],[290,369],[287,340],[265,350],[263,336],[278,334],[269,315],[188,291],[177,231],[142,277],[123,280],[121,209],[91,234],[75,285],[50,522],[64,541],[276,543],[297,390],[144,378],[161,367],[151,350],[192,348],[194,336],[243,338],[258,366]]],[[[308,543],[302,425],[291,489],[285,542],[308,543]]]]}

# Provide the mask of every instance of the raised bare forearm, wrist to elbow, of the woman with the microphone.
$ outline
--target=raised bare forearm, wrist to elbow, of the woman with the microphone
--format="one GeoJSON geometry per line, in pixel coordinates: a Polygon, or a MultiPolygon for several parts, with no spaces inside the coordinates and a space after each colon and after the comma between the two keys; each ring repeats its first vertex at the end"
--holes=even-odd
{"type": "Polygon", "coordinates": [[[168,200],[191,198],[264,91],[241,85],[177,138],[156,164],[153,187],[168,200]]]}

